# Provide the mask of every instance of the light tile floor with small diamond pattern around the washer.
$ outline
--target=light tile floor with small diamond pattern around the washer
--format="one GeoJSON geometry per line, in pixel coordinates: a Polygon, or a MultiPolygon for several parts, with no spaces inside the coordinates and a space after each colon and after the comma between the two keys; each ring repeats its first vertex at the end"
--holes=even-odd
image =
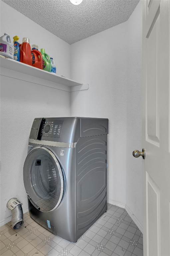
{"type": "Polygon", "coordinates": [[[143,256],[143,236],[127,212],[108,204],[108,210],[71,243],[55,236],[24,214],[17,231],[11,222],[0,227],[1,256],[143,256]]]}

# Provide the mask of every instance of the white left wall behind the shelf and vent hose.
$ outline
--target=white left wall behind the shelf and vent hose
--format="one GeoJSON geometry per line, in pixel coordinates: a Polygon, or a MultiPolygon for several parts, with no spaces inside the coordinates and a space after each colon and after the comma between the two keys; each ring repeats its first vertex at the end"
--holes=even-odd
{"type": "MultiPolygon", "coordinates": [[[[4,32],[45,48],[58,74],[70,77],[70,45],[1,1],[1,35],[4,32]]],[[[69,92],[1,76],[1,225],[11,220],[6,207],[10,198],[21,200],[27,211],[23,165],[34,118],[70,114],[69,92]]]]}

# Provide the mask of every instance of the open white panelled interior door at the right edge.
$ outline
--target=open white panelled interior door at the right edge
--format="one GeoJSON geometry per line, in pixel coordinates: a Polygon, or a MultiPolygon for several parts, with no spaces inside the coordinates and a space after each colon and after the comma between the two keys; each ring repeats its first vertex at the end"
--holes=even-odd
{"type": "Polygon", "coordinates": [[[144,256],[170,256],[170,1],[143,1],[144,256]]]}

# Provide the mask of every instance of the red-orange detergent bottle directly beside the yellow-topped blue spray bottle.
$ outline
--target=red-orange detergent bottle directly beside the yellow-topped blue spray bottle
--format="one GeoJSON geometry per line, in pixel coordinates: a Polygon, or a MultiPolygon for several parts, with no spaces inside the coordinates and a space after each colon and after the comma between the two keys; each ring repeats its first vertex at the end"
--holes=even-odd
{"type": "Polygon", "coordinates": [[[27,37],[23,37],[20,44],[20,62],[32,66],[30,39],[27,37]]]}

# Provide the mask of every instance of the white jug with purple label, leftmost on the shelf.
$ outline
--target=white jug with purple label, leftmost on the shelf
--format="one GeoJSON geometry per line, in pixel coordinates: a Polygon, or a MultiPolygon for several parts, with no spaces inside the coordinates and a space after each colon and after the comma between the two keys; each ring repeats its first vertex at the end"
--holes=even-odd
{"type": "Polygon", "coordinates": [[[0,37],[0,55],[14,59],[14,44],[7,33],[0,37]]]}

